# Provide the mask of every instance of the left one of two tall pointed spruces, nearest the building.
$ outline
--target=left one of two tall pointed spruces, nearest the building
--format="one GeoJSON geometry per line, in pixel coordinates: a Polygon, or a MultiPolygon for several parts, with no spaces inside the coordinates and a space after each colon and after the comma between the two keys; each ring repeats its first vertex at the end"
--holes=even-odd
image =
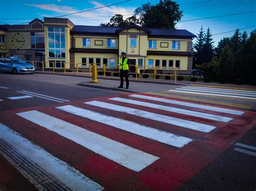
{"type": "Polygon", "coordinates": [[[193,49],[194,49],[193,66],[201,65],[204,63],[202,59],[204,43],[205,43],[205,34],[204,34],[203,26],[201,26],[201,29],[197,34],[196,43],[193,44],[193,49]]]}

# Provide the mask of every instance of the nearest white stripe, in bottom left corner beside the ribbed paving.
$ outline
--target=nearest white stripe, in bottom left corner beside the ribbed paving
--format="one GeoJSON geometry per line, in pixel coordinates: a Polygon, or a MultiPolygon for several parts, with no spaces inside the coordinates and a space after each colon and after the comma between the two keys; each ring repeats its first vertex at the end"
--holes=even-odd
{"type": "MultiPolygon", "coordinates": [[[[30,161],[37,164],[46,172],[53,175],[55,179],[58,179],[58,181],[68,186],[70,190],[104,189],[102,186],[98,185],[98,183],[81,174],[79,171],[77,171],[77,169],[66,164],[66,162],[54,157],[38,145],[31,143],[28,139],[21,137],[21,135],[19,135],[17,132],[12,131],[10,128],[2,123],[0,123],[0,139],[1,138],[5,140],[5,142],[12,145],[26,158],[30,159],[30,161]]],[[[23,162],[22,164],[24,164],[23,162]]],[[[38,182],[36,182],[35,180],[35,178],[38,179],[39,173],[37,174],[37,177],[31,177],[30,174],[22,171],[22,168],[17,167],[17,169],[26,178],[31,178],[31,183],[35,184],[37,188],[42,188],[41,185],[38,185],[38,182]]],[[[46,184],[47,182],[43,183],[46,184]]]]}

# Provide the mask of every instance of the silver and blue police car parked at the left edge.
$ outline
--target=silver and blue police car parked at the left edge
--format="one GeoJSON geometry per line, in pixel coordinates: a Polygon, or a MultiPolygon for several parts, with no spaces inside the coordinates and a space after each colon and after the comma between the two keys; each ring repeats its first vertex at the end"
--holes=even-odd
{"type": "Polygon", "coordinates": [[[36,72],[36,69],[28,62],[18,59],[17,57],[10,57],[0,58],[0,72],[12,72],[13,74],[33,74],[36,72]]]}

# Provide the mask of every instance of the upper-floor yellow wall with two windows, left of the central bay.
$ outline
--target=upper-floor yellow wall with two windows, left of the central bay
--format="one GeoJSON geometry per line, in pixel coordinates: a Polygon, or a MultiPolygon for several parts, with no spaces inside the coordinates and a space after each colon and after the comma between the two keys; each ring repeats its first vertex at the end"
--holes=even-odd
{"type": "Polygon", "coordinates": [[[109,48],[107,47],[107,39],[116,39],[116,47],[110,47],[110,49],[118,49],[118,38],[117,37],[91,37],[91,36],[84,36],[84,37],[74,37],[76,39],[76,48],[109,48]],[[91,39],[91,46],[84,47],[83,45],[83,38],[90,38],[91,39]],[[102,45],[100,44],[102,41],[102,45]]]}

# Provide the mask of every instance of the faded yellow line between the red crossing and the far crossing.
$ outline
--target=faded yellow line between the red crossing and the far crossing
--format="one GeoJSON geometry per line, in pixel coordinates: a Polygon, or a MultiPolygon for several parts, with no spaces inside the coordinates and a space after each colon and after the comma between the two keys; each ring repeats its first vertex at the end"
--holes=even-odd
{"type": "MultiPolygon", "coordinates": [[[[226,107],[235,107],[235,108],[242,108],[242,109],[251,109],[252,108],[252,105],[242,105],[242,104],[227,103],[227,102],[220,102],[220,101],[214,101],[214,100],[205,100],[203,98],[194,98],[194,97],[186,97],[186,96],[181,96],[181,95],[173,95],[170,93],[170,91],[164,91],[164,92],[167,92],[169,94],[157,93],[157,92],[153,92],[153,91],[147,91],[147,92],[145,92],[145,94],[150,94],[153,96],[168,97],[168,98],[177,98],[179,100],[194,101],[194,102],[206,103],[206,104],[225,105],[226,107]]],[[[214,97],[214,96],[204,95],[204,97],[214,97]]],[[[232,99],[235,99],[235,98],[232,98],[232,99]]]]}

